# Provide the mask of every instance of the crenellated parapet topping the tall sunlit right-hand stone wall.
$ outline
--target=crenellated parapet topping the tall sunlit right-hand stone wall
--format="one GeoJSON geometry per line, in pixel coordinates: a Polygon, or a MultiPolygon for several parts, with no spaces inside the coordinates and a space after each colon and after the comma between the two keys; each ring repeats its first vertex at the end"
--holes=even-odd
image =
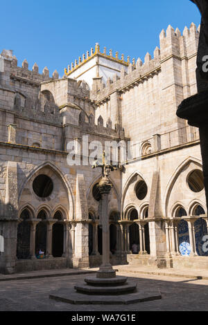
{"type": "Polygon", "coordinates": [[[166,32],[162,30],[159,35],[160,48],[155,48],[153,58],[149,53],[146,53],[144,63],[138,58],[135,64],[128,65],[127,72],[122,67],[121,76],[115,75],[113,80],[107,80],[106,85],[102,82],[98,84],[94,80],[91,98],[98,103],[105,100],[114,91],[128,91],[140,82],[143,83],[145,80],[153,77],[153,75],[158,74],[161,71],[162,62],[171,57],[182,60],[197,55],[199,32],[200,26],[196,28],[196,25],[193,23],[190,28],[184,28],[183,35],[178,28],[174,30],[169,25],[166,32]]]}

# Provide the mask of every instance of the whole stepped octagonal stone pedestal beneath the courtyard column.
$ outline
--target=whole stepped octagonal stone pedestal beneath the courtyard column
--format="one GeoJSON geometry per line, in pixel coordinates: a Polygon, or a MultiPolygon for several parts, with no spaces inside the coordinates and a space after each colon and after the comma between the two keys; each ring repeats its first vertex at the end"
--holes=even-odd
{"type": "Polygon", "coordinates": [[[87,277],[85,283],[78,284],[74,288],[62,288],[49,295],[49,298],[69,304],[121,305],[162,299],[162,296],[157,288],[139,290],[137,284],[128,281],[127,277],[111,279],[87,277]]]}

